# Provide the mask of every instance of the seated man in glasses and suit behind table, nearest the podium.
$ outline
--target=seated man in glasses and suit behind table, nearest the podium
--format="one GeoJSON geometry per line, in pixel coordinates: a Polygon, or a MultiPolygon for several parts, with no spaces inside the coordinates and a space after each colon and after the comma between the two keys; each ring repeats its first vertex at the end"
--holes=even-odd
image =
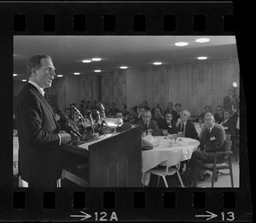
{"type": "Polygon", "coordinates": [[[143,120],[140,120],[137,125],[142,127],[142,132],[151,133],[153,136],[160,135],[160,129],[154,120],[151,120],[151,112],[146,110],[142,115],[143,120]]]}

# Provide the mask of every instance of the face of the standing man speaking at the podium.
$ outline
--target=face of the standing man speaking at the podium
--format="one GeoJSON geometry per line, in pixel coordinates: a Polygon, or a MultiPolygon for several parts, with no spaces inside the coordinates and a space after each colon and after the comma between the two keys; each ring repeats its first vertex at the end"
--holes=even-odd
{"type": "Polygon", "coordinates": [[[32,69],[32,80],[34,80],[41,88],[51,87],[51,83],[55,76],[55,66],[52,61],[43,58],[41,59],[41,67],[32,69]]]}

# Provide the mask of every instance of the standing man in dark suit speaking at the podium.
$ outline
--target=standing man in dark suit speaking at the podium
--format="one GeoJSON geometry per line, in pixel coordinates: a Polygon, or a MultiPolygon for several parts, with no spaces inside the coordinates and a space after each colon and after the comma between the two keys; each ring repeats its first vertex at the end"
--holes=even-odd
{"type": "Polygon", "coordinates": [[[55,67],[49,55],[32,56],[26,65],[29,82],[21,89],[16,106],[21,179],[29,187],[56,187],[61,178],[60,146],[71,135],[59,132],[44,88],[51,87],[55,67]]]}

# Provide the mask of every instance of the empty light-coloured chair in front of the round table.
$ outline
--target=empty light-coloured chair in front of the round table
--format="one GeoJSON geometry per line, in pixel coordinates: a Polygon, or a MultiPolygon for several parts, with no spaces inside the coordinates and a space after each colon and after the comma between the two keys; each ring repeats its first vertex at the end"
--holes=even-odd
{"type": "Polygon", "coordinates": [[[166,175],[177,174],[177,177],[181,186],[184,187],[183,180],[181,179],[180,174],[178,172],[178,170],[180,169],[181,155],[182,155],[182,150],[169,152],[168,157],[166,157],[165,161],[160,163],[154,169],[148,170],[150,174],[158,175],[157,186],[159,186],[160,176],[163,178],[166,187],[168,187],[168,184],[166,181],[166,175]]]}

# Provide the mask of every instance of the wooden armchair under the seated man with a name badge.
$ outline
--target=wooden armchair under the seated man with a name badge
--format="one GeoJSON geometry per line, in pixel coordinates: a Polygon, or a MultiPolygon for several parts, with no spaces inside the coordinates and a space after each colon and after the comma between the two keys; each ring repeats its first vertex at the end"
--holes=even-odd
{"type": "Polygon", "coordinates": [[[222,152],[215,152],[214,156],[214,162],[213,163],[204,163],[202,165],[202,169],[210,170],[212,171],[212,187],[214,186],[214,182],[217,182],[218,180],[218,174],[224,174],[221,172],[218,172],[218,170],[221,169],[230,169],[230,180],[231,180],[231,186],[234,187],[234,180],[233,180],[233,171],[232,171],[232,162],[231,162],[231,146],[232,141],[225,140],[223,151],[222,152]],[[223,155],[224,156],[224,163],[217,163],[217,156],[223,155]]]}

